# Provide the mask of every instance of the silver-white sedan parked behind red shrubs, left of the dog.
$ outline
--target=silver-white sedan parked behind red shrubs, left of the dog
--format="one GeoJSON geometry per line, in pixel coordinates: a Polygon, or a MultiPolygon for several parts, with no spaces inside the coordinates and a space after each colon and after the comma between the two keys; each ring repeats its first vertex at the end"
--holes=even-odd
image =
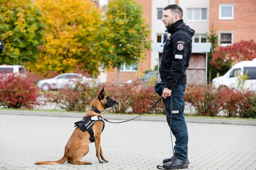
{"type": "Polygon", "coordinates": [[[58,90],[65,87],[74,88],[77,81],[88,83],[90,86],[98,84],[97,79],[88,78],[78,73],[63,73],[54,78],[40,80],[38,81],[37,86],[44,91],[50,89],[58,90]]]}

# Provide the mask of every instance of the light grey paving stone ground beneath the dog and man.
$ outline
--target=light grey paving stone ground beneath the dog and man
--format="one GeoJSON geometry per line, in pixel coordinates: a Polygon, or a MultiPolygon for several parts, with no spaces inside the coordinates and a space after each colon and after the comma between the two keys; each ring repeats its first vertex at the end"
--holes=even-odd
{"type": "MultiPolygon", "coordinates": [[[[0,114],[0,169],[156,170],[163,158],[172,155],[166,122],[106,122],[101,146],[109,163],[98,162],[95,145],[91,143],[82,161],[91,161],[92,165],[35,165],[36,161],[62,158],[74,122],[79,120],[0,114]]],[[[200,123],[187,126],[190,170],[256,169],[256,126],[200,123]]]]}

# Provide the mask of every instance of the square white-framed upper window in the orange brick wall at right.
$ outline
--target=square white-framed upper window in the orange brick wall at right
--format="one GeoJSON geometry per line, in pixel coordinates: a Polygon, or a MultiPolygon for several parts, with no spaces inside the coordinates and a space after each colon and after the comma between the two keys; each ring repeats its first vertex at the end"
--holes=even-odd
{"type": "Polygon", "coordinates": [[[233,20],[234,19],[234,5],[220,5],[219,19],[220,20],[233,20]]]}

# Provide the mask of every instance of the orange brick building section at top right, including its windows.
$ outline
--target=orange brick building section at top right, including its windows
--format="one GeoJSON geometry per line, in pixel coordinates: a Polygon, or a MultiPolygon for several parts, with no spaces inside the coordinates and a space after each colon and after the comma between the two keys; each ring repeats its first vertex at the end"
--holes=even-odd
{"type": "Polygon", "coordinates": [[[210,0],[209,28],[214,23],[221,46],[256,40],[256,0],[210,0]]]}

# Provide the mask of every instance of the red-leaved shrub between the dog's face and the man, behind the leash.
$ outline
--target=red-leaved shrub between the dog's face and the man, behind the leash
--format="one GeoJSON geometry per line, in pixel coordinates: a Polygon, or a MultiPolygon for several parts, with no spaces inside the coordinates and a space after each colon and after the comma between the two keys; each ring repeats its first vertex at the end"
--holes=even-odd
{"type": "MultiPolygon", "coordinates": [[[[139,82],[132,84],[106,83],[105,92],[119,104],[110,111],[115,113],[139,113],[146,112],[160,98],[154,87],[147,87],[139,82]]],[[[160,102],[150,113],[164,113],[164,105],[160,102]]]]}

